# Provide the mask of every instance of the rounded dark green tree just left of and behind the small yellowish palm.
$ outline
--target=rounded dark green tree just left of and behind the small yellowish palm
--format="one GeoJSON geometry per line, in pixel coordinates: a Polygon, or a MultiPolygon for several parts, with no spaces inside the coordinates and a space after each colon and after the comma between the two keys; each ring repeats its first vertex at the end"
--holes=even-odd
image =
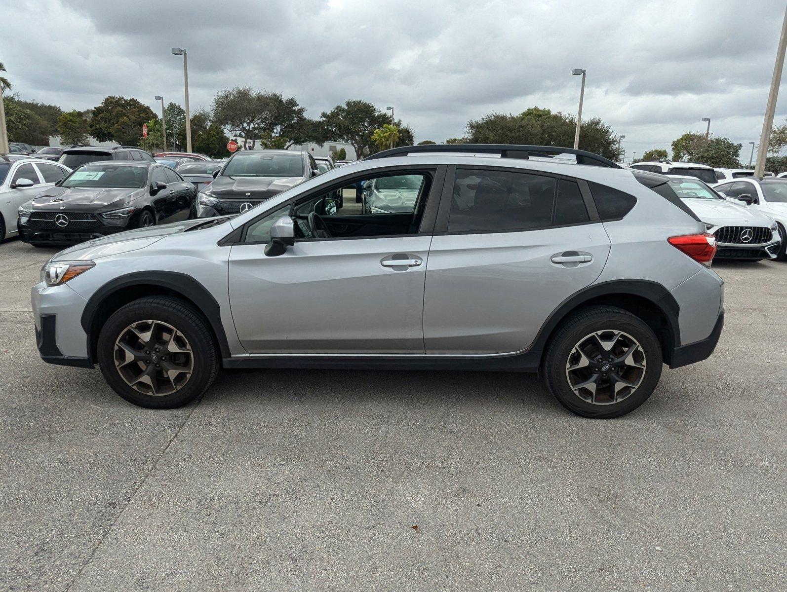
{"type": "Polygon", "coordinates": [[[336,105],[329,112],[321,114],[323,138],[347,142],[353,146],[360,158],[365,153],[375,150],[375,141],[371,135],[375,130],[390,119],[385,112],[378,111],[375,105],[366,101],[346,101],[344,105],[336,105]]]}

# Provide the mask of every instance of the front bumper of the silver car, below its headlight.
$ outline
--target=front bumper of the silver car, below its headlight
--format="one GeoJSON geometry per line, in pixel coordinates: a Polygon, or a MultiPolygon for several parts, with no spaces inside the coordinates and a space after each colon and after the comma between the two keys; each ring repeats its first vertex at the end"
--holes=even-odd
{"type": "Polygon", "coordinates": [[[30,293],[35,322],[35,344],[44,362],[92,368],[87,334],[80,319],[87,300],[68,285],[40,282],[30,293]]]}

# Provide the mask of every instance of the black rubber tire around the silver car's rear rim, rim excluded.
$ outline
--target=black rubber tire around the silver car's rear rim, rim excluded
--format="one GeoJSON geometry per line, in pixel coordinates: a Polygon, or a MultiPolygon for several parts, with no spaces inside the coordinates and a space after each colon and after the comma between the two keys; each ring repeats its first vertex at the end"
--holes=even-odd
{"type": "MultiPolygon", "coordinates": [[[[603,364],[604,360],[591,363],[603,364]]],[[[567,410],[582,417],[608,419],[630,413],[645,403],[656,388],[656,384],[659,383],[662,363],[659,340],[645,322],[622,308],[593,306],[572,314],[556,329],[546,349],[543,370],[549,392],[567,410]],[[575,347],[582,343],[587,336],[597,332],[610,332],[610,334],[623,332],[638,342],[645,355],[645,369],[638,376],[640,381],[637,388],[633,392],[623,388],[620,391],[622,397],[625,392],[630,392],[630,394],[614,403],[592,403],[583,399],[571,388],[567,377],[567,365],[571,356],[576,355],[574,353],[575,347]]],[[[590,367],[586,370],[588,373],[593,373],[590,367]]],[[[582,391],[582,389],[580,392],[589,394],[589,391],[582,391]]],[[[593,395],[593,399],[595,399],[595,395],[593,395]]]]}

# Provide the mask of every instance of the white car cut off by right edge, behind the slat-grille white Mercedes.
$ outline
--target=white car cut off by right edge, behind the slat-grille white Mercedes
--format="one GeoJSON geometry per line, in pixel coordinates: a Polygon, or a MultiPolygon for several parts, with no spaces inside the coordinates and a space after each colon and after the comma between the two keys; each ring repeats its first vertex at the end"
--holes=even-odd
{"type": "Polygon", "coordinates": [[[741,201],[752,211],[773,218],[781,235],[781,248],[776,258],[787,260],[787,179],[766,177],[760,181],[759,178],[737,178],[719,183],[714,189],[727,198],[741,201]]]}

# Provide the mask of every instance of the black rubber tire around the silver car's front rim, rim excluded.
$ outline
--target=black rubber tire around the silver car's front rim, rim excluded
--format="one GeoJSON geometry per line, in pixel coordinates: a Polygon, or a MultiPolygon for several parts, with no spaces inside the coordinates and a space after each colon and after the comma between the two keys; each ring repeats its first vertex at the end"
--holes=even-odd
{"type": "MultiPolygon", "coordinates": [[[[150,409],[173,409],[198,399],[216,379],[220,366],[216,342],[205,318],[189,303],[167,296],[140,298],[115,311],[98,336],[97,353],[98,365],[109,386],[129,403],[150,409]],[[116,340],[130,325],[146,320],[171,325],[182,333],[190,346],[193,369],[184,384],[174,392],[164,395],[140,392],[131,387],[116,368],[116,340]]],[[[140,368],[143,367],[142,363],[145,362],[139,362],[140,368]]]]}

